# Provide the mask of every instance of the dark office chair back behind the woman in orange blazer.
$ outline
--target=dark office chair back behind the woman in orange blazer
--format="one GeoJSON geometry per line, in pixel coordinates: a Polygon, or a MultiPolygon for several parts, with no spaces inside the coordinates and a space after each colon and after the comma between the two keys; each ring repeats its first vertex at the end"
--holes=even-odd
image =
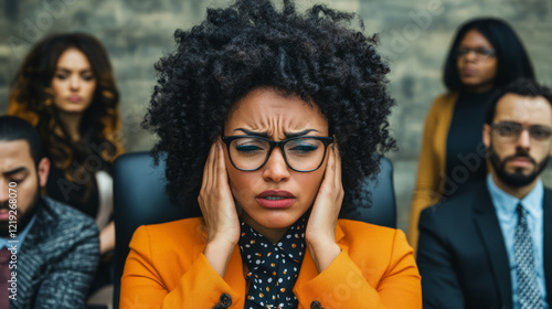
{"type": "MultiPolygon", "coordinates": [[[[378,181],[367,181],[364,190],[372,193],[372,206],[354,201],[358,212],[343,217],[396,227],[393,166],[386,158],[380,161],[378,181]]],[[[173,205],[164,192],[164,162],[153,166],[149,152],[123,154],[114,163],[114,216],[116,230],[114,308],[119,308],[120,277],[125,267],[130,238],[138,226],[199,216],[190,209],[173,205]]]]}

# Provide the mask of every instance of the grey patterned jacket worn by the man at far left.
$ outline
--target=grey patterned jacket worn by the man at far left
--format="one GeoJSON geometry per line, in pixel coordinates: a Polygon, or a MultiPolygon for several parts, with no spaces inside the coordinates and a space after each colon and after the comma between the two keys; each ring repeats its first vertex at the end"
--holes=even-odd
{"type": "Polygon", "coordinates": [[[77,210],[42,196],[18,253],[10,308],[85,308],[99,258],[98,228],[77,210]]]}

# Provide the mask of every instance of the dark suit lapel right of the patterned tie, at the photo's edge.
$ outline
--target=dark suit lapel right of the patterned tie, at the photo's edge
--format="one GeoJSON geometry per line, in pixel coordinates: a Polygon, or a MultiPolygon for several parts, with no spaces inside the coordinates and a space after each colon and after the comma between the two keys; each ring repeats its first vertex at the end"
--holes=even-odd
{"type": "Polygon", "coordinates": [[[543,242],[544,242],[544,283],[546,301],[552,305],[552,191],[544,189],[543,209],[543,242]]]}

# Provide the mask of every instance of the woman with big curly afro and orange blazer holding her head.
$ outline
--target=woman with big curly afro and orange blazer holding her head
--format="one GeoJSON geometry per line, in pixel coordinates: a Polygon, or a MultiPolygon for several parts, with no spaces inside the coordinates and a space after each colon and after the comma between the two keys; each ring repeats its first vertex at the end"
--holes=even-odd
{"type": "Polygon", "coordinates": [[[121,308],[421,308],[404,234],[338,220],[394,148],[389,67],[353,18],[238,0],[176,31],[145,122],[202,216],[135,232],[121,308]]]}

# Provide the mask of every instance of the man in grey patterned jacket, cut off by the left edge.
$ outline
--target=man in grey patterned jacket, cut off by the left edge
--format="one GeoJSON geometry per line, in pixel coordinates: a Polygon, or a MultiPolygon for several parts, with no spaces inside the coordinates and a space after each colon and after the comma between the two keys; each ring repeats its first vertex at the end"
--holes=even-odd
{"type": "Polygon", "coordinates": [[[0,117],[0,308],[85,308],[98,228],[41,196],[50,162],[40,153],[31,125],[0,117]]]}

